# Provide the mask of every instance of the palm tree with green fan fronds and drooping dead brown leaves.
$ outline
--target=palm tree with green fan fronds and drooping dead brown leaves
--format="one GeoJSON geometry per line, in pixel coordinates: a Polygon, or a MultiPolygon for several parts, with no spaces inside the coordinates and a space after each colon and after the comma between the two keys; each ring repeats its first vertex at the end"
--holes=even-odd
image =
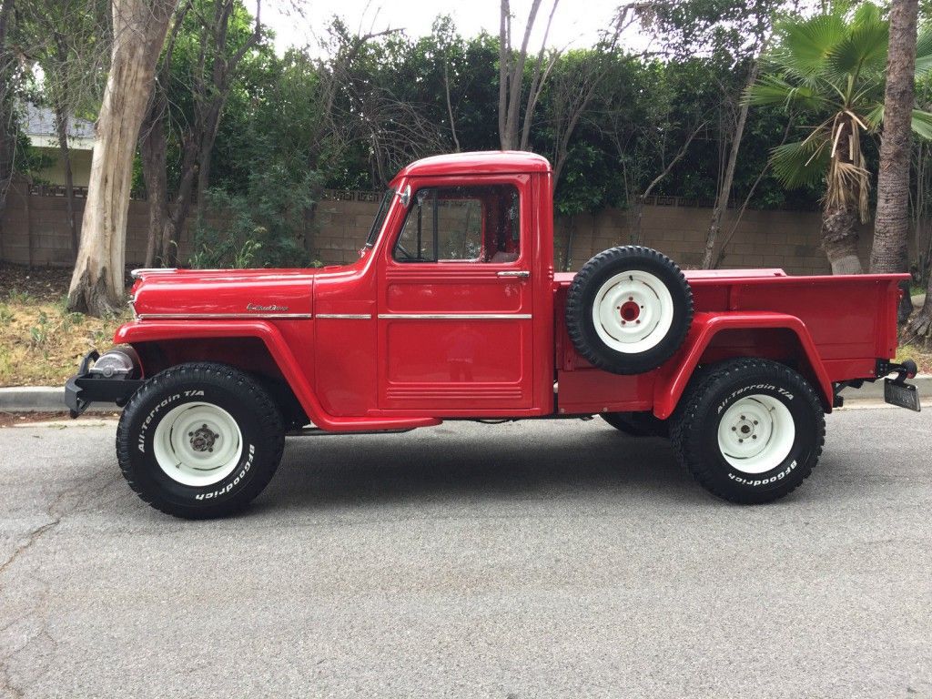
{"type": "MultiPolygon", "coordinates": [[[[774,29],[768,65],[747,98],[812,117],[815,126],[802,141],[771,152],[774,174],[788,187],[824,179],[822,246],[832,273],[858,274],[857,224],[869,220],[871,179],[861,142],[884,119],[888,22],[879,7],[862,3],[853,13],[829,7],[774,29]]],[[[932,41],[924,36],[917,48],[916,75],[925,75],[932,70],[932,41]]],[[[932,139],[932,114],[914,109],[911,129],[932,139]]]]}

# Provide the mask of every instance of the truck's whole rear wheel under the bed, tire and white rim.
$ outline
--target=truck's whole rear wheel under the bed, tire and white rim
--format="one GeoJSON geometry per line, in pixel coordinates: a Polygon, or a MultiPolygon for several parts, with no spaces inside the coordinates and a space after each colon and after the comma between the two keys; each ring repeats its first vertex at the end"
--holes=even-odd
{"type": "Polygon", "coordinates": [[[742,504],[788,495],[812,473],[825,444],[825,413],[816,391],[788,366],[767,360],[737,359],[711,367],[693,382],[671,419],[670,437],[683,465],[710,493],[742,504]],[[766,416],[761,424],[754,421],[756,413],[766,416]],[[738,450],[729,457],[720,447],[722,422],[726,448],[738,450]],[[747,446],[727,441],[744,443],[758,436],[762,443],[747,446]],[[760,444],[773,449],[771,459],[740,453],[760,449],[760,444]],[[788,448],[782,459],[781,444],[788,448]]]}

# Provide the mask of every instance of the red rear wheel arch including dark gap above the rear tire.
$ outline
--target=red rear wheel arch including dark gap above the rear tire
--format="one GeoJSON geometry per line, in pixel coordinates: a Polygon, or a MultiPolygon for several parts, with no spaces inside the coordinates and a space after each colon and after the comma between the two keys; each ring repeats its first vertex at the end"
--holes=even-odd
{"type": "Polygon", "coordinates": [[[673,414],[697,367],[742,356],[795,369],[816,389],[825,412],[831,412],[831,381],[805,323],[784,313],[750,311],[695,314],[686,342],[669,363],[672,371],[655,384],[654,415],[666,419],[673,414]]]}

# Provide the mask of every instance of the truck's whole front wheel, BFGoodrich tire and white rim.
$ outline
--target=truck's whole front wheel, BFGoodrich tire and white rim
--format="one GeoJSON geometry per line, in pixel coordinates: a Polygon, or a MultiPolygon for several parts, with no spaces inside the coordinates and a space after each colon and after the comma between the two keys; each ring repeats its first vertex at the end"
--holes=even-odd
{"type": "Polygon", "coordinates": [[[281,460],[277,405],[226,364],[185,363],[157,374],[117,428],[120,469],[140,498],[166,514],[232,514],[268,485],[281,460]]]}

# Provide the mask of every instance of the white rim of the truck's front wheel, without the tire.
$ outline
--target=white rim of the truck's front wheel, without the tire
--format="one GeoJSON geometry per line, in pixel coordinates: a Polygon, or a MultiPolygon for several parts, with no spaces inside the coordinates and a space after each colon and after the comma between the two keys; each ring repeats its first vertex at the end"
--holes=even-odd
{"type": "Polygon", "coordinates": [[[158,422],[153,437],[158,467],[183,486],[219,483],[240,462],[242,432],[219,405],[185,403],[158,422]]]}

